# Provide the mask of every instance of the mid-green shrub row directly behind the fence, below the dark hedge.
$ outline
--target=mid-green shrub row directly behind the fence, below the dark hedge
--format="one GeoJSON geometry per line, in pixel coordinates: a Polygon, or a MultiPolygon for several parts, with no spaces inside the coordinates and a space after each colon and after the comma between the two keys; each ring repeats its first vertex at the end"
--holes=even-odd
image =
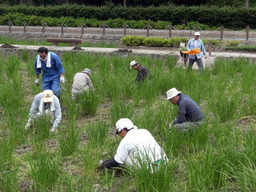
{"type": "MultiPolygon", "coordinates": [[[[126,20],[122,18],[114,18],[106,21],[98,21],[95,18],[72,18],[72,17],[62,17],[62,18],[50,18],[50,17],[41,17],[35,15],[26,15],[26,14],[5,14],[0,16],[0,25],[6,25],[8,21],[12,22],[14,26],[22,26],[23,22],[26,22],[29,26],[41,26],[42,22],[46,22],[47,26],[61,26],[61,23],[64,22],[66,26],[82,26],[86,24],[88,27],[102,27],[103,23],[106,23],[107,26],[111,28],[122,28],[126,23],[130,28],[133,29],[143,29],[149,23],[153,29],[164,30],[170,28],[170,22],[153,22],[153,21],[134,21],[126,20]]],[[[190,30],[194,29],[195,26],[199,26],[201,30],[213,30],[209,26],[202,25],[198,22],[189,22],[187,25],[178,25],[174,26],[178,30],[190,30]]]]}

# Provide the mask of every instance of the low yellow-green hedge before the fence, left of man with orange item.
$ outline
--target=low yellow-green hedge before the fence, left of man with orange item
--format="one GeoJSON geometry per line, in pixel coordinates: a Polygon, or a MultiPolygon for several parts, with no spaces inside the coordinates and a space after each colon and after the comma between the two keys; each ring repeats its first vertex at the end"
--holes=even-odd
{"type": "Polygon", "coordinates": [[[126,36],[121,39],[124,46],[156,46],[179,47],[180,42],[187,42],[188,38],[147,38],[142,36],[126,36]]]}

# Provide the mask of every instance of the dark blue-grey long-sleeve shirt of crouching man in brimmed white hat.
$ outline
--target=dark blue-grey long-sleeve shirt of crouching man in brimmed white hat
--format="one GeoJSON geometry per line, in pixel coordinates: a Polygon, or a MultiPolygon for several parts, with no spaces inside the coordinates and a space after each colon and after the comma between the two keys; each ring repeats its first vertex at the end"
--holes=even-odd
{"type": "Polygon", "coordinates": [[[180,94],[178,99],[178,118],[174,122],[198,122],[204,118],[202,110],[196,102],[186,94],[180,94]]]}

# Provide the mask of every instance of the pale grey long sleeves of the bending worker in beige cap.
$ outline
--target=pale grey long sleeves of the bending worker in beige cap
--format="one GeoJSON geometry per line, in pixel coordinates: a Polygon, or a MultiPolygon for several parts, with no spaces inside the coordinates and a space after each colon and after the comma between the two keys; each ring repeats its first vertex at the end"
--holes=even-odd
{"type": "MultiPolygon", "coordinates": [[[[32,121],[32,118],[34,118],[36,116],[36,114],[39,112],[39,106],[40,106],[40,102],[42,100],[42,93],[37,94],[34,97],[34,102],[32,103],[32,106],[30,108],[30,118],[28,120],[28,122],[32,121]]],[[[54,123],[52,128],[56,128],[58,127],[59,122],[61,122],[62,120],[62,109],[61,106],[59,104],[58,98],[54,95],[54,123]]]]}

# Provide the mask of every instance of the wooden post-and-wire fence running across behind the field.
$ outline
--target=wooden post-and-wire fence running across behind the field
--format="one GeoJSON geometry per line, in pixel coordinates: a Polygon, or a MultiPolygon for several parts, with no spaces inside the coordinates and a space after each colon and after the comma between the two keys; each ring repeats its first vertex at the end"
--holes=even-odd
{"type": "Polygon", "coordinates": [[[42,22],[41,26],[29,26],[26,22],[22,23],[22,26],[14,26],[12,22],[8,22],[7,26],[0,26],[0,32],[11,33],[38,33],[38,34],[60,34],[64,37],[64,34],[79,34],[81,38],[84,34],[99,34],[99,35],[141,35],[146,37],[191,37],[195,31],[202,32],[202,38],[239,38],[244,40],[256,40],[256,32],[250,29],[250,26],[246,26],[243,30],[229,30],[224,26],[220,26],[217,30],[202,30],[199,26],[194,26],[190,30],[178,30],[170,24],[169,29],[158,30],[154,29],[150,24],[147,24],[143,29],[133,29],[130,26],[124,24],[122,28],[111,28],[103,23],[101,27],[88,27],[83,24],[80,27],[67,26],[64,22],[60,26],[47,26],[46,22],[42,22]]]}

